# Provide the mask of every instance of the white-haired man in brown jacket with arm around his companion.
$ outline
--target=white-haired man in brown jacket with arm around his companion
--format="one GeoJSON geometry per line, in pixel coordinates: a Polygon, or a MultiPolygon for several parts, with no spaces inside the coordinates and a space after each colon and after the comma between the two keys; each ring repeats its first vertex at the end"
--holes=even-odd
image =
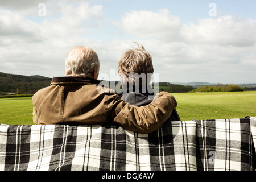
{"type": "Polygon", "coordinates": [[[128,130],[151,133],[175,109],[175,98],[166,92],[143,107],[127,104],[113,90],[106,93],[98,86],[99,69],[96,52],[84,46],[73,48],[65,62],[65,76],[53,77],[50,86],[32,97],[34,123],[115,123],[128,130]]]}

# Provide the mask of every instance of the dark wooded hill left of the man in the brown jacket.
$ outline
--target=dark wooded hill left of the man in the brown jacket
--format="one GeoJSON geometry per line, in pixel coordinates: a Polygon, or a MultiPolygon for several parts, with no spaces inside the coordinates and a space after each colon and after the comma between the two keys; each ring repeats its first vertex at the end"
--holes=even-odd
{"type": "Polygon", "coordinates": [[[0,94],[7,93],[35,93],[37,90],[49,86],[52,78],[39,75],[23,76],[0,72],[0,94]]]}

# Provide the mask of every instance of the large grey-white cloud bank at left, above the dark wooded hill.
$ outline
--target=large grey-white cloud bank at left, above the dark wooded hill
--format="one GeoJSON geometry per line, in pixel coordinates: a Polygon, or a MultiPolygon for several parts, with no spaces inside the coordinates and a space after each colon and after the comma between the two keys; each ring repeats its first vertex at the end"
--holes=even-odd
{"type": "Polygon", "coordinates": [[[60,10],[59,18],[36,23],[19,11],[0,9],[0,61],[5,72],[61,76],[68,51],[93,42],[84,35],[92,31],[93,20],[100,22],[101,6],[60,5],[60,10]]]}

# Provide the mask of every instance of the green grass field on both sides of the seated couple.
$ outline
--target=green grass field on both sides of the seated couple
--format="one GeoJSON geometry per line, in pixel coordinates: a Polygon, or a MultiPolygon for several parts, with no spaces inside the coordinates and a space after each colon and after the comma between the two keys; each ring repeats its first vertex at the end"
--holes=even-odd
{"type": "MultiPolygon", "coordinates": [[[[180,119],[231,119],[256,116],[256,92],[172,93],[180,119]]],[[[33,125],[31,97],[0,98],[0,123],[33,125]]]]}

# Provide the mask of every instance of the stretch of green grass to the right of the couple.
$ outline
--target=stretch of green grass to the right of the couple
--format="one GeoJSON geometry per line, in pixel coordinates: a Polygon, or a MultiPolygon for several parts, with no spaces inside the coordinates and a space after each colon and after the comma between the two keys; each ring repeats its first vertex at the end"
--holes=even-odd
{"type": "Polygon", "coordinates": [[[172,93],[180,119],[231,119],[256,116],[256,92],[172,93]]]}

